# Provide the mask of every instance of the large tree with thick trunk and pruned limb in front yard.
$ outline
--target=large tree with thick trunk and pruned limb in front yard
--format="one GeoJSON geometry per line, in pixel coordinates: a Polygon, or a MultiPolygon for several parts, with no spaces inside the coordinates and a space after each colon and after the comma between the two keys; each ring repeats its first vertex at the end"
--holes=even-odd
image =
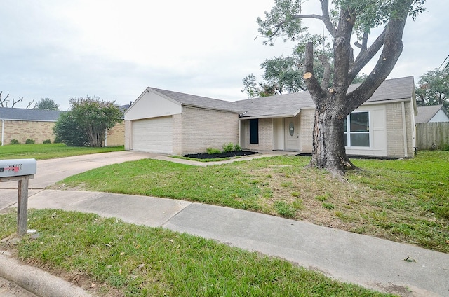
{"type": "Polygon", "coordinates": [[[258,18],[257,23],[266,44],[273,45],[279,37],[302,43],[303,78],[316,106],[309,166],[341,175],[344,170],[355,168],[344,148],[345,120],[390,74],[403,50],[402,35],[408,15],[415,19],[425,11],[425,0],[319,1],[321,15],[303,13],[302,0],[275,0],[272,11],[265,12],[265,20],[258,18]],[[332,67],[326,55],[317,55],[313,40],[303,37],[307,32],[302,25],[304,19],[320,20],[332,37],[332,67]],[[368,43],[376,27],[383,29],[368,43]],[[351,45],[354,36],[355,48],[351,45]],[[377,53],[380,55],[373,70],[358,88],[347,93],[354,78],[377,53]],[[324,68],[323,78],[317,75],[316,59],[321,60],[324,68]]]}

